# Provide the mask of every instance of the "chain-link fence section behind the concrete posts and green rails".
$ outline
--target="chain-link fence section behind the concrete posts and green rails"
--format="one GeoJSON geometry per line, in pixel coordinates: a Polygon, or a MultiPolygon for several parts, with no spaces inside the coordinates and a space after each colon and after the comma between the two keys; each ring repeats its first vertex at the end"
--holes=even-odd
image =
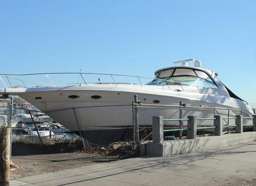
{"type": "MultiPolygon", "coordinates": [[[[189,107],[172,107],[172,106],[145,106],[135,104],[135,110],[138,112],[139,139],[140,141],[152,140],[152,118],[153,116],[163,116],[164,119],[183,119],[188,116],[197,116],[197,118],[213,118],[214,109],[207,108],[189,108],[189,107]]],[[[197,122],[198,127],[213,126],[213,120],[200,120],[197,122]]],[[[164,121],[164,130],[186,129],[187,121],[164,121]]],[[[198,130],[199,135],[211,133],[213,130],[198,130]]],[[[164,136],[174,138],[186,138],[186,131],[164,132],[164,136]]],[[[166,138],[168,139],[168,138],[166,138]]]]}

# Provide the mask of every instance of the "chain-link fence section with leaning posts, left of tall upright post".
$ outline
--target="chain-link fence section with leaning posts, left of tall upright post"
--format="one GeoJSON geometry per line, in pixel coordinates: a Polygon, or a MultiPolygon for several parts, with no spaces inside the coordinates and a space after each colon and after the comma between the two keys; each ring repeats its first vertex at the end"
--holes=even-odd
{"type": "Polygon", "coordinates": [[[19,122],[12,129],[12,141],[34,145],[63,144],[74,148],[133,151],[132,108],[131,104],[90,106],[45,113],[14,109],[13,118],[19,119],[19,122]]]}

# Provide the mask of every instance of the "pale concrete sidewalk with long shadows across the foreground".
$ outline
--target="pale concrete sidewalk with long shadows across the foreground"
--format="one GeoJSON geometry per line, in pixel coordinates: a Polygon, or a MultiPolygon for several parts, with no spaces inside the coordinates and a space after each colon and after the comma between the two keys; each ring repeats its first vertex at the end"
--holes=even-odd
{"type": "Polygon", "coordinates": [[[11,186],[255,185],[256,142],[175,155],[131,158],[11,180],[11,186]]]}

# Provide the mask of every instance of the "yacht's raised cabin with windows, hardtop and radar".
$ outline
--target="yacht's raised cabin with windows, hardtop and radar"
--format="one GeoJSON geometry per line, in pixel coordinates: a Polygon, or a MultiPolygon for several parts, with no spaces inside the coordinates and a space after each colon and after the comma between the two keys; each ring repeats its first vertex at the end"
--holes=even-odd
{"type": "Polygon", "coordinates": [[[187,63],[189,61],[194,61],[194,59],[174,62],[174,64],[182,63],[181,66],[157,70],[154,73],[155,79],[146,85],[180,85],[182,90],[176,89],[178,92],[187,90],[196,93],[196,91],[199,91],[199,93],[228,96],[242,100],[218,79],[218,73],[202,68],[201,62],[198,60],[195,61],[193,67],[189,66],[187,63]],[[183,87],[183,85],[185,86],[183,87]]]}

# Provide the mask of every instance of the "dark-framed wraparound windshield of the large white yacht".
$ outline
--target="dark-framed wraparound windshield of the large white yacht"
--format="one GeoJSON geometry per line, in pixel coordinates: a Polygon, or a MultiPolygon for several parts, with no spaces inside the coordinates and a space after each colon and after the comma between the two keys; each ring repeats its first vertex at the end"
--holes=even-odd
{"type": "Polygon", "coordinates": [[[218,88],[207,73],[189,68],[162,70],[157,73],[155,78],[146,85],[188,85],[218,88]]]}

